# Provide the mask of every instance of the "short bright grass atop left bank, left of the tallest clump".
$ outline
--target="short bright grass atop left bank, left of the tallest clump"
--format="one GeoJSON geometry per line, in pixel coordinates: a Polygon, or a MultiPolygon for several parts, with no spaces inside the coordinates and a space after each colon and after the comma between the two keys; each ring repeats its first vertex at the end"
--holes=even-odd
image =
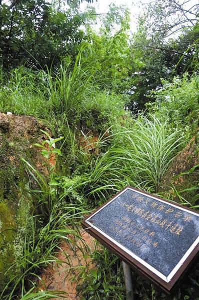
{"type": "Polygon", "coordinates": [[[0,111],[45,118],[49,101],[44,89],[44,71],[31,71],[23,66],[13,69],[9,78],[0,80],[0,111]]]}

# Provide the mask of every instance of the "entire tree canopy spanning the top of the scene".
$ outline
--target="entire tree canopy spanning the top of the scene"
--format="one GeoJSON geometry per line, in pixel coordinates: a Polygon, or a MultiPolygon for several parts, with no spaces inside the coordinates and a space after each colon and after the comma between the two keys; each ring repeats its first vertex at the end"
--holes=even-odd
{"type": "Polygon", "coordinates": [[[145,5],[132,35],[126,7],[111,4],[100,15],[90,6],[80,13],[82,1],[0,1],[3,69],[23,64],[55,70],[64,61],[74,62],[86,42],[84,57],[95,60],[92,72],[100,88],[128,96],[130,109],[136,111],[148,101],[148,92],[161,86],[161,78],[191,74],[198,65],[198,5],[192,1],[145,5]],[[93,29],[93,21],[100,22],[100,30],[93,29]]]}

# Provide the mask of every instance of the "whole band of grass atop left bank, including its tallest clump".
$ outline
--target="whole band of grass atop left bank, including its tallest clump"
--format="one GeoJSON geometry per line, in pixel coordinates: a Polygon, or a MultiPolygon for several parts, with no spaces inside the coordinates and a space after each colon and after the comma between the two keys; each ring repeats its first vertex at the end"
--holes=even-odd
{"type": "Polygon", "coordinates": [[[96,64],[85,57],[86,47],[82,44],[75,62],[63,61],[56,72],[19,66],[9,77],[0,74],[0,111],[44,118],[59,131],[67,122],[73,128],[105,130],[124,114],[127,97],[99,90],[96,64]]]}

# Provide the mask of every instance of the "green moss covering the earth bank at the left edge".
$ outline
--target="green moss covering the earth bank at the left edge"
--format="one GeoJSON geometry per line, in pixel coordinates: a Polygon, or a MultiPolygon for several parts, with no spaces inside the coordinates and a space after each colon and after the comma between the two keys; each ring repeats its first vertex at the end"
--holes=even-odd
{"type": "Polygon", "coordinates": [[[20,272],[14,266],[8,267],[23,253],[25,234],[28,234],[32,197],[25,190],[29,181],[20,157],[32,161],[25,138],[10,141],[6,134],[0,134],[0,287],[13,274],[20,272]],[[6,272],[6,274],[5,274],[6,272]]]}

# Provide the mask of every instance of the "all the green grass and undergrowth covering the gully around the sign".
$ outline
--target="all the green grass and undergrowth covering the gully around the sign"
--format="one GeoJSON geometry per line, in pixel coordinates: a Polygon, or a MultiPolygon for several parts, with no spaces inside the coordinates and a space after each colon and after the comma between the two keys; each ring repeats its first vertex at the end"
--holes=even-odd
{"type": "MultiPolygon", "coordinates": [[[[126,185],[157,193],[166,170],[187,143],[191,126],[197,127],[194,77],[164,81],[147,112],[131,116],[124,110],[127,95],[99,90],[93,76],[95,61],[86,64],[84,49],[85,45],[74,65],[63,63],[56,73],[21,66],[0,80],[0,111],[44,118],[64,136],[63,144],[61,138],[47,135],[35,145],[46,159],[51,153],[59,156],[60,167],[48,167],[48,182],[22,159],[37,183],[37,189],[29,192],[34,193],[40,213],[29,220],[32,230],[26,234],[23,256],[10,266],[20,268],[21,275],[6,283],[0,295],[4,300],[59,297],[61,291],[39,291],[36,286],[43,267],[62,262],[56,256],[60,241],[72,243],[71,235],[81,238],[77,228],[83,215],[126,185]],[[53,148],[54,143],[59,147],[53,148]]],[[[198,185],[192,188],[198,190],[198,185]]],[[[180,196],[183,190],[176,192],[180,196]]],[[[198,208],[198,195],[191,205],[198,208]]],[[[97,268],[79,275],[82,297],[123,299],[120,261],[106,249],[92,256],[97,268]]],[[[165,299],[138,275],[135,281],[137,299],[165,299]]]]}

